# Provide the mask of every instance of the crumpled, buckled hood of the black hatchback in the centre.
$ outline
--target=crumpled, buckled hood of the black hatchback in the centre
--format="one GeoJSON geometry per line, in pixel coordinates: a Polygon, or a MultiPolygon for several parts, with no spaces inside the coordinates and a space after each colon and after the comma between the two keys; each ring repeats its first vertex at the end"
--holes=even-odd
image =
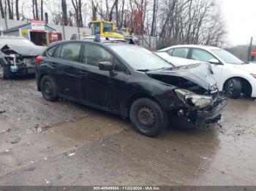
{"type": "Polygon", "coordinates": [[[211,65],[208,63],[194,63],[187,66],[176,66],[170,69],[148,71],[146,74],[183,77],[206,90],[211,90],[212,87],[217,85],[211,65]]]}

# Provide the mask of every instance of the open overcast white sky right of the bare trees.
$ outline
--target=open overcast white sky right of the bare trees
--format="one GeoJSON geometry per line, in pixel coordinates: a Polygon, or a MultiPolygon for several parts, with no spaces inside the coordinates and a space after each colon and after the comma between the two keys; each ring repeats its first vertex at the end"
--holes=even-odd
{"type": "Polygon", "coordinates": [[[222,0],[230,45],[256,43],[256,0],[222,0]]]}

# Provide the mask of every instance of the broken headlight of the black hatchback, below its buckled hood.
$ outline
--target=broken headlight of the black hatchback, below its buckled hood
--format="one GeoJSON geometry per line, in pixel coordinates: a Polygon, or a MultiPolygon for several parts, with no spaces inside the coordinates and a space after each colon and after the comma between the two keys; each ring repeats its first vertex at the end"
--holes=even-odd
{"type": "Polygon", "coordinates": [[[177,89],[175,90],[176,95],[181,101],[184,101],[185,104],[189,106],[199,107],[200,109],[205,108],[206,106],[213,106],[214,101],[211,97],[206,95],[197,95],[188,90],[177,89]]]}

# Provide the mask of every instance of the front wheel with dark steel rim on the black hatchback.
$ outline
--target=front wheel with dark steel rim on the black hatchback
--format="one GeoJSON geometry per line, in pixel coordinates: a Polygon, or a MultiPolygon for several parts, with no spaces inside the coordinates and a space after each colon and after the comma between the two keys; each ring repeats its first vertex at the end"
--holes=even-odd
{"type": "Polygon", "coordinates": [[[159,104],[148,98],[136,100],[129,110],[132,126],[140,134],[149,137],[156,137],[165,130],[166,116],[159,104]]]}

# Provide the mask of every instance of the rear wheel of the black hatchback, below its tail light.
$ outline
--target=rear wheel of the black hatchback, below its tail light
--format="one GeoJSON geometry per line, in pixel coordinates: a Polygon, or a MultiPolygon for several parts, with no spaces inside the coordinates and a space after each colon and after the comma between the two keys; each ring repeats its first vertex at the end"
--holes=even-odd
{"type": "Polygon", "coordinates": [[[56,84],[53,81],[52,77],[50,76],[42,77],[40,81],[40,87],[42,91],[42,96],[47,101],[56,101],[59,98],[56,84]]]}

